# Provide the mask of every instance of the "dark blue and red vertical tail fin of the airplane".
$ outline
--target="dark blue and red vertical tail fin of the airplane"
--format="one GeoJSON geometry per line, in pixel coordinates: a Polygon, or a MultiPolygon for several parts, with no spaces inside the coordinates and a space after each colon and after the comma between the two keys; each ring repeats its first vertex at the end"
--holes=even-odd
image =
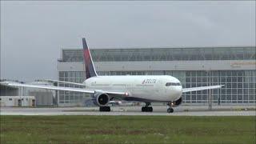
{"type": "Polygon", "coordinates": [[[83,60],[85,62],[85,67],[86,67],[86,79],[90,77],[98,76],[94,68],[94,62],[90,56],[90,50],[86,44],[86,38],[82,38],[82,46],[83,46],[83,60]]]}

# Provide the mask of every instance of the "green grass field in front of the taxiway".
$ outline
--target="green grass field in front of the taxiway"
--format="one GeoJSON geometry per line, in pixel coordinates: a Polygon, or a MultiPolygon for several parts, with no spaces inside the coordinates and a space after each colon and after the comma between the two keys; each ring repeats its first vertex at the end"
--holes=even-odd
{"type": "Polygon", "coordinates": [[[255,117],[1,116],[1,143],[255,143],[255,117]]]}

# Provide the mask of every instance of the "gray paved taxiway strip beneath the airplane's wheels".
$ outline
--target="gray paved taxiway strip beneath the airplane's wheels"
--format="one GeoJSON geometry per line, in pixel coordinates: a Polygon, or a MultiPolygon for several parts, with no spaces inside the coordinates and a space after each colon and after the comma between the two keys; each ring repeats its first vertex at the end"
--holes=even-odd
{"type": "Polygon", "coordinates": [[[1,107],[1,115],[168,115],[168,116],[255,116],[255,106],[179,106],[167,113],[166,106],[153,106],[154,112],[141,112],[141,106],[113,106],[110,112],[98,107],[22,108],[1,107]]]}

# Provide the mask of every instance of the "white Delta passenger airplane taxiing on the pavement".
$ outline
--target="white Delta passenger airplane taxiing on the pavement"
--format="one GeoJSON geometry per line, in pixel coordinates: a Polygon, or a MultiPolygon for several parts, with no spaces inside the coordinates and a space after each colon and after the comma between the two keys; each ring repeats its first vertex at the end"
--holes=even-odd
{"type": "MultiPolygon", "coordinates": [[[[201,86],[192,88],[182,88],[181,82],[170,75],[122,75],[122,76],[100,76],[96,73],[94,62],[87,46],[86,38],[82,38],[83,57],[86,67],[86,80],[82,83],[75,83],[82,88],[63,86],[37,86],[18,82],[1,82],[7,86],[24,86],[48,90],[67,90],[90,94],[91,100],[99,111],[110,111],[110,102],[114,98],[124,101],[145,102],[142,112],[152,112],[151,102],[166,102],[168,113],[173,113],[173,107],[182,103],[182,93],[219,89],[223,85],[201,86]]],[[[51,80],[53,82],[63,82],[51,80]]],[[[70,83],[70,82],[64,82],[70,83]]]]}

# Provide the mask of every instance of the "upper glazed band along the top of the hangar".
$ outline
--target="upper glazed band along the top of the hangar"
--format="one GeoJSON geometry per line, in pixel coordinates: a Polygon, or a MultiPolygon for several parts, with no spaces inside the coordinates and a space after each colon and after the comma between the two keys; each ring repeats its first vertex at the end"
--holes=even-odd
{"type": "MultiPolygon", "coordinates": [[[[255,46],[90,50],[94,62],[255,59],[255,46]]],[[[82,50],[62,50],[62,62],[82,62],[82,50]]]]}

